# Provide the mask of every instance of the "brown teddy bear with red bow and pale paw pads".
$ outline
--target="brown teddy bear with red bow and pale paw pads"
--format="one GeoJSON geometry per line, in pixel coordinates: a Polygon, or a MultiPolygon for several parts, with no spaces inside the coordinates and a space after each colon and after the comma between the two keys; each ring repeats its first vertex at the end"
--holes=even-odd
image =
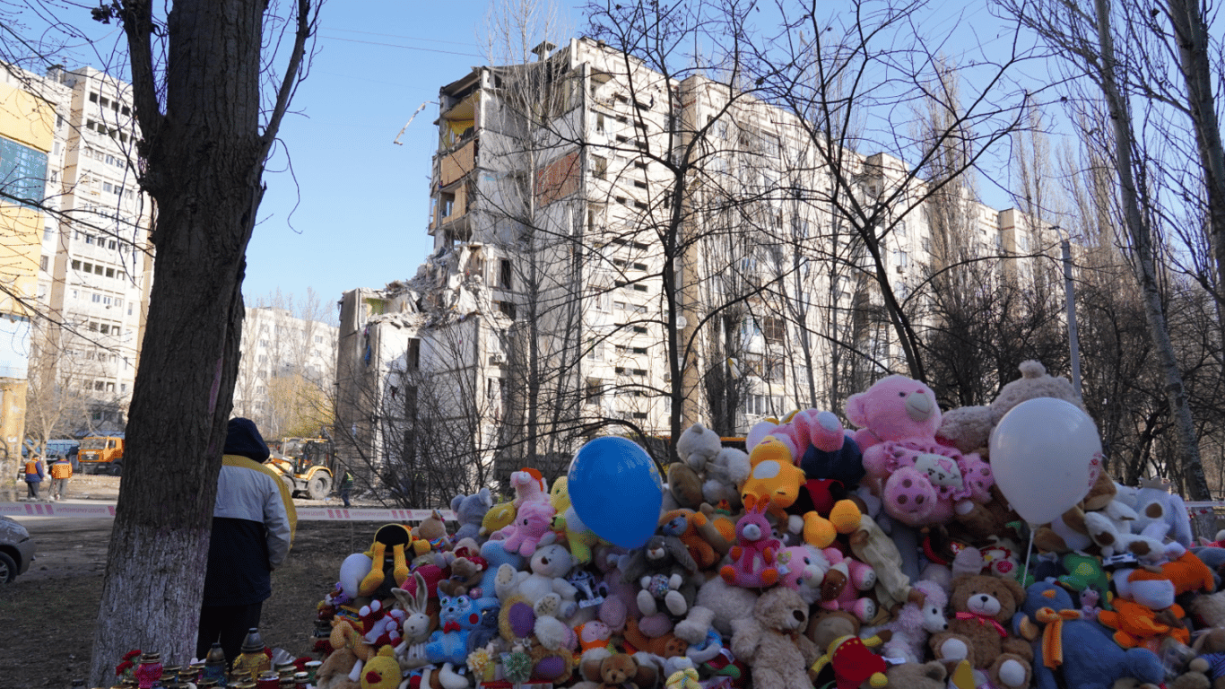
{"type": "Polygon", "coordinates": [[[929,641],[936,660],[968,660],[1001,689],[1029,687],[1034,651],[1028,641],[1008,634],[1012,615],[1024,601],[1025,590],[1011,579],[958,576],[948,597],[954,613],[948,631],[929,641]]]}

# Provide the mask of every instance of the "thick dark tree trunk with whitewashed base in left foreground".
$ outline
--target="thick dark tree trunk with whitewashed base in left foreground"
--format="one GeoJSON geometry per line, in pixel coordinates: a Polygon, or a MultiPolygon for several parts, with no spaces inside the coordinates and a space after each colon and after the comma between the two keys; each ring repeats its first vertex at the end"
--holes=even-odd
{"type": "MultiPolygon", "coordinates": [[[[124,2],[132,88],[157,202],[149,315],[132,392],[124,479],[94,631],[91,685],[129,650],[168,664],[195,652],[217,474],[238,374],[246,245],[268,148],[310,34],[296,40],[260,131],[265,2],[180,0],[167,16],[165,109],[147,0],[124,2]]],[[[111,676],[113,677],[113,676],[111,676]]]]}

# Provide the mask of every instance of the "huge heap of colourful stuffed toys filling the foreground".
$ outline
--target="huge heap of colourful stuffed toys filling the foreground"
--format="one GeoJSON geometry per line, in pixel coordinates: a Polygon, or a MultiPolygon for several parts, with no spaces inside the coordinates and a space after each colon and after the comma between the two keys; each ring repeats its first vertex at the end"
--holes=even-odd
{"type": "Polygon", "coordinates": [[[1160,481],[1100,472],[1041,526],[1009,508],[992,428],[1035,397],[1080,406],[1020,370],[944,413],[893,375],[848,401],[858,430],[809,409],[747,452],[693,425],[632,549],[532,468],[505,503],[456,497],[458,528],[382,526],[320,603],[317,687],[1225,689],[1225,548],[1193,543],[1160,481]]]}

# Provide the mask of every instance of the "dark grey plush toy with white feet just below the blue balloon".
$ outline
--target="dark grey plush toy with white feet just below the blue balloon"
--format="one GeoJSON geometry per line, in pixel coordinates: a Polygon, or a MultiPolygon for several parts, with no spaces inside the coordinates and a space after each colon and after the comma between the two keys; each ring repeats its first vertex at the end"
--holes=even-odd
{"type": "Polygon", "coordinates": [[[642,548],[637,548],[621,573],[622,581],[638,582],[636,597],[642,614],[658,612],[657,601],[676,617],[688,612],[697,596],[693,575],[697,563],[690,557],[685,543],[675,536],[654,535],[642,548]]]}

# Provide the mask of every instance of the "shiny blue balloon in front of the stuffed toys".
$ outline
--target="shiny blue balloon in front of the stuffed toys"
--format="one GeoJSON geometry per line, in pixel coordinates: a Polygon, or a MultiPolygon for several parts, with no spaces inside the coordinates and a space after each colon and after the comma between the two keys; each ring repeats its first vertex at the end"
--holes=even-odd
{"type": "Polygon", "coordinates": [[[570,501],[597,536],[622,548],[647,542],[659,525],[663,479],[647,451],[625,438],[597,438],[575,454],[570,501]]]}

